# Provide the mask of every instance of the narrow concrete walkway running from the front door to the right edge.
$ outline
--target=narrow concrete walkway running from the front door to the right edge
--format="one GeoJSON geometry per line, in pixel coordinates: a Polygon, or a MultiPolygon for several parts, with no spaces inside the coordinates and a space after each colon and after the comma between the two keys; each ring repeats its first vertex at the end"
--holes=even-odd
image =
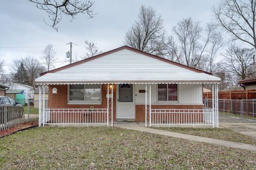
{"type": "Polygon", "coordinates": [[[114,123],[114,126],[119,127],[119,128],[129,129],[129,130],[162,134],[162,135],[166,135],[169,137],[188,139],[188,140],[193,140],[193,141],[198,141],[198,142],[212,143],[212,144],[222,145],[222,146],[231,147],[231,148],[256,151],[256,145],[248,145],[248,144],[244,144],[244,143],[231,142],[231,141],[220,140],[220,139],[198,137],[196,135],[190,135],[190,134],[183,134],[183,133],[169,132],[169,131],[152,129],[152,128],[145,128],[145,124],[138,124],[138,123],[134,123],[134,122],[132,122],[132,123],[116,122],[116,123],[114,123]]]}

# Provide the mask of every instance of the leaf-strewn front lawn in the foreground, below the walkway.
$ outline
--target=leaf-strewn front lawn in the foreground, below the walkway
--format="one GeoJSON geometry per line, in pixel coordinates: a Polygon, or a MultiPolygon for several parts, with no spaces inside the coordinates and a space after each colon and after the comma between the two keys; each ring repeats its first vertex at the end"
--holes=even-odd
{"type": "Polygon", "coordinates": [[[0,140],[0,169],[255,169],[256,152],[119,128],[35,128],[0,140]]]}

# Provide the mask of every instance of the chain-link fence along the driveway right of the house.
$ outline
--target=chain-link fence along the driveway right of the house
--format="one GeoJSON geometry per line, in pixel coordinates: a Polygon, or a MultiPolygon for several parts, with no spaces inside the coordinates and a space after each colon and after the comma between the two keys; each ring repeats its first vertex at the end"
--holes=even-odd
{"type": "MultiPolygon", "coordinates": [[[[246,120],[252,120],[252,122],[256,122],[256,99],[219,99],[218,104],[219,116],[222,116],[220,117],[222,120],[219,121],[227,121],[228,118],[225,117],[236,117],[239,118],[240,122],[245,122],[246,120]]],[[[204,99],[204,106],[211,108],[212,99],[204,99]]]]}

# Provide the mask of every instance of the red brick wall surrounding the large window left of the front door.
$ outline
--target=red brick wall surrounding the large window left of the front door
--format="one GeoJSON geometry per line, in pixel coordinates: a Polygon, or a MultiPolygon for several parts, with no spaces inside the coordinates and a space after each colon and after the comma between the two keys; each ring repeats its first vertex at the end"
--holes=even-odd
{"type": "MultiPolygon", "coordinates": [[[[107,84],[102,84],[102,96],[101,96],[101,104],[93,105],[74,105],[68,104],[68,85],[50,85],[49,86],[49,108],[90,108],[93,106],[94,108],[107,108],[107,84]],[[57,88],[57,94],[52,94],[52,89],[57,88]]],[[[110,88],[109,88],[110,89],[110,88]]],[[[111,93],[111,91],[110,91],[111,93]]],[[[113,119],[116,118],[116,86],[113,86],[113,119]]]]}

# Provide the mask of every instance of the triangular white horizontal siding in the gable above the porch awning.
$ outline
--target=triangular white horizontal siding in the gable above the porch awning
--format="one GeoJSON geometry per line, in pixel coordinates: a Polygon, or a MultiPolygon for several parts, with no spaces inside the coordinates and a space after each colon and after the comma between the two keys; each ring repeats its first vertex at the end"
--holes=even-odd
{"type": "Polygon", "coordinates": [[[139,53],[123,49],[95,60],[70,67],[57,73],[159,73],[159,72],[183,72],[185,74],[194,71],[166,63],[139,53]]]}

